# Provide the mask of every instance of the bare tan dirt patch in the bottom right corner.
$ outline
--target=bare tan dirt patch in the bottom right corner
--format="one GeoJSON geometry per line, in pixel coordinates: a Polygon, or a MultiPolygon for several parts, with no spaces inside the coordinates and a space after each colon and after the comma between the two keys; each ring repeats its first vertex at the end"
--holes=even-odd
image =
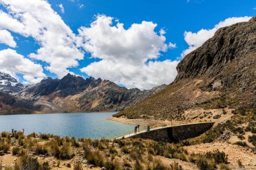
{"type": "Polygon", "coordinates": [[[185,146],[185,149],[189,153],[206,153],[208,151],[224,151],[228,155],[228,165],[231,169],[240,169],[237,161],[240,159],[244,165],[243,169],[256,169],[256,155],[254,155],[249,149],[235,144],[228,144],[226,142],[215,142],[197,144],[193,146],[185,146]]]}

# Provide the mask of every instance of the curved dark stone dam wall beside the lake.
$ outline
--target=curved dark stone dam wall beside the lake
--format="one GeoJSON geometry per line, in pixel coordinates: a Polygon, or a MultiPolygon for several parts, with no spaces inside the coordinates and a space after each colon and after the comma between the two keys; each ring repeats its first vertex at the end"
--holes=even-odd
{"type": "Polygon", "coordinates": [[[196,124],[183,124],[177,126],[168,126],[152,129],[149,132],[141,132],[127,136],[127,138],[143,138],[163,142],[177,142],[187,138],[199,136],[203,132],[209,130],[214,122],[203,122],[196,124]]]}

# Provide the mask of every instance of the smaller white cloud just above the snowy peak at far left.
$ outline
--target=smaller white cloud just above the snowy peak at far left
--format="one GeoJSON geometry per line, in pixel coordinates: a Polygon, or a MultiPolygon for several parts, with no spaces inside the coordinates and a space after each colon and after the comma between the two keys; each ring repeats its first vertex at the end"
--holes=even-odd
{"type": "Polygon", "coordinates": [[[38,83],[45,77],[41,65],[9,48],[0,50],[0,71],[9,73],[13,77],[17,77],[18,73],[22,74],[27,83],[38,83]]]}

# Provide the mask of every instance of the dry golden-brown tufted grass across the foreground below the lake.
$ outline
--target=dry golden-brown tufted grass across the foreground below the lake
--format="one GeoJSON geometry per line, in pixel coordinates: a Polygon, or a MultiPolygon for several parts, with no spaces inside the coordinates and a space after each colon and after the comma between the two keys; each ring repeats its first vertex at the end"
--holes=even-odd
{"type": "MultiPolygon", "coordinates": [[[[190,162],[199,169],[216,169],[217,165],[227,167],[228,157],[224,152],[214,151],[204,155],[189,155],[181,144],[155,142],[152,140],[91,140],[87,138],[60,138],[51,134],[33,133],[24,136],[22,132],[11,134],[1,132],[0,155],[11,154],[17,157],[12,166],[0,169],[52,169],[59,167],[61,161],[72,160],[65,164],[75,170],[90,167],[102,169],[183,169],[178,163],[164,165],[161,157],[190,162]],[[161,157],[158,157],[161,156],[161,157]],[[53,157],[55,164],[44,161],[53,157]]],[[[0,159],[1,160],[1,159],[0,159]]],[[[63,166],[63,165],[62,165],[63,166]]],[[[219,167],[219,166],[218,166],[219,167]]],[[[227,168],[228,169],[228,168],[227,168]]]]}

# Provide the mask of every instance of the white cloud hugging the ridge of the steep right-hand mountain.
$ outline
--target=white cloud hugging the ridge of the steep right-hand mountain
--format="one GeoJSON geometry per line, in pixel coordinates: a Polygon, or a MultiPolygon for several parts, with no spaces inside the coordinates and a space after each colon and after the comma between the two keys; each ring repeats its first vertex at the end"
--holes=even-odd
{"type": "Polygon", "coordinates": [[[189,48],[183,51],[181,54],[182,58],[185,57],[187,54],[192,52],[193,50],[197,49],[199,46],[201,46],[205,41],[212,38],[215,34],[215,32],[219,28],[223,28],[226,26],[231,26],[232,24],[236,24],[238,22],[248,22],[251,17],[229,17],[225,19],[222,22],[219,22],[214,26],[214,28],[210,30],[201,29],[199,32],[185,32],[185,41],[189,45],[189,48]]]}

